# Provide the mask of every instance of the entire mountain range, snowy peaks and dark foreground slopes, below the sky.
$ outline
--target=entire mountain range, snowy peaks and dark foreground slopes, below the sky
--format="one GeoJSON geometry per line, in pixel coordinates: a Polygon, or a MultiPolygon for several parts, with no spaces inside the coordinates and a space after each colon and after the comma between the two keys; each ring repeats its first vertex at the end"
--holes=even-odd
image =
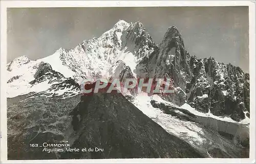
{"type": "MultiPolygon", "coordinates": [[[[206,52],[207,53],[207,52],[206,52]]],[[[140,21],[119,20],[72,49],[7,64],[8,159],[242,158],[249,156],[249,74],[197,58],[169,27],[158,45],[140,21]],[[88,78],[168,78],[169,95],[95,93],[88,78]],[[103,152],[42,152],[59,143],[103,152]]]]}

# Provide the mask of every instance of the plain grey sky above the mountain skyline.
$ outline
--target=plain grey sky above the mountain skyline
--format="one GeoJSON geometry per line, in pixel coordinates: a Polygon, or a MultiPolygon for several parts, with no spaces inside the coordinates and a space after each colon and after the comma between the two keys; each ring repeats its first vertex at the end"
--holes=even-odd
{"type": "Polygon", "coordinates": [[[43,58],[60,47],[75,48],[120,19],[140,20],[158,44],[168,27],[176,26],[189,54],[215,57],[249,72],[248,7],[9,8],[7,62],[22,55],[43,58]]]}

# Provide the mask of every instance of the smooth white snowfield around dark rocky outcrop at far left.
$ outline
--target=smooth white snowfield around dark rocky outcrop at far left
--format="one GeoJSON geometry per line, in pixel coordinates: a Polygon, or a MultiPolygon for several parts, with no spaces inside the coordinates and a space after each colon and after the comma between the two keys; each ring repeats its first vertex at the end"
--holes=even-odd
{"type": "MultiPolygon", "coordinates": [[[[13,80],[10,83],[7,83],[7,97],[13,98],[19,95],[25,95],[29,92],[41,92],[50,88],[53,84],[57,84],[58,82],[48,84],[49,80],[44,82],[40,82],[37,84],[31,84],[33,80],[35,80],[34,75],[37,71],[38,65],[41,61],[45,63],[49,63],[53,70],[61,73],[63,76],[72,77],[74,76],[74,72],[72,72],[67,66],[62,64],[59,56],[61,53],[61,49],[56,51],[53,55],[48,56],[46,58],[38,59],[36,61],[32,60],[22,60],[26,61],[25,64],[19,64],[18,68],[13,69],[13,71],[7,74],[7,80],[18,76],[18,79],[13,80]],[[29,62],[27,62],[29,61],[29,62]]],[[[20,59],[20,57],[19,57],[20,59]]],[[[24,58],[22,58],[24,59],[24,58]]],[[[26,59],[26,58],[25,58],[26,59]]],[[[18,59],[14,59],[13,61],[19,61],[18,59]]],[[[15,62],[13,62],[15,63],[15,62]]]]}

